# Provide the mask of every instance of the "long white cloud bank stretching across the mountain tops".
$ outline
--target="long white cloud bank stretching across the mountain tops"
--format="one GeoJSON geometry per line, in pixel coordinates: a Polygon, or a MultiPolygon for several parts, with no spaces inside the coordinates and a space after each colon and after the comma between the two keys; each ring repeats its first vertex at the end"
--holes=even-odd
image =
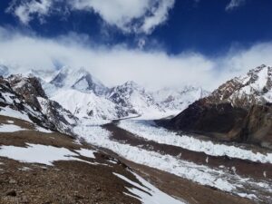
{"type": "Polygon", "coordinates": [[[131,50],[122,45],[112,49],[86,47],[81,38],[71,34],[48,40],[0,27],[0,59],[18,72],[53,70],[57,62],[74,68],[83,66],[109,86],[133,80],[153,89],[193,84],[211,90],[257,65],[272,65],[272,43],[209,59],[199,53],[169,55],[159,49],[131,50]]]}

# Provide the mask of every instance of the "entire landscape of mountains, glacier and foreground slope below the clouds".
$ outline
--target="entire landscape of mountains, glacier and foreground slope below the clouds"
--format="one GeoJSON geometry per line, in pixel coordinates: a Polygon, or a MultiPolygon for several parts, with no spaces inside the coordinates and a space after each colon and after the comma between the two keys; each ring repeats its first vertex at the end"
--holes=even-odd
{"type": "Polygon", "coordinates": [[[211,93],[150,92],[133,82],[108,88],[83,68],[63,67],[50,79],[2,77],[0,203],[269,204],[270,109],[251,116],[244,101],[256,94],[256,104],[267,106],[269,83],[266,92],[252,91],[263,70],[270,68],[211,93]],[[250,92],[241,91],[246,86],[250,92]],[[251,128],[251,117],[259,125],[251,128]]]}

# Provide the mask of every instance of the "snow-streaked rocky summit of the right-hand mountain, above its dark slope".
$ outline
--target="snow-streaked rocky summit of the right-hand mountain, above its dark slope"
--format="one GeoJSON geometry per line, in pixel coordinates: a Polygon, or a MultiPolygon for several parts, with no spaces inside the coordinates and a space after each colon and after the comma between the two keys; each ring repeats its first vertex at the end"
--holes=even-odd
{"type": "Polygon", "coordinates": [[[244,76],[223,83],[211,93],[209,101],[227,101],[244,108],[252,103],[272,102],[272,67],[263,64],[244,76]]]}

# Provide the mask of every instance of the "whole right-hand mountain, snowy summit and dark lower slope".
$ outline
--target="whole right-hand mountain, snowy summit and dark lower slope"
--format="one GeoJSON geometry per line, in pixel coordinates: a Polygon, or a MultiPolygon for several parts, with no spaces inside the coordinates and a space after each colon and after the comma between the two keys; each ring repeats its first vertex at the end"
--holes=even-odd
{"type": "Polygon", "coordinates": [[[272,149],[271,79],[272,68],[266,65],[231,79],[180,112],[170,128],[272,149]]]}

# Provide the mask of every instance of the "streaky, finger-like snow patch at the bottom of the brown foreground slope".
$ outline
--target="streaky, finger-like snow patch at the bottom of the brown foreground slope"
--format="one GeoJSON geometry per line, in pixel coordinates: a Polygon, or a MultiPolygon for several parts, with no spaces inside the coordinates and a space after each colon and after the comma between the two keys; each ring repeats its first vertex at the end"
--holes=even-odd
{"type": "Polygon", "coordinates": [[[146,180],[142,179],[139,175],[136,173],[133,173],[133,175],[136,177],[137,180],[141,182],[141,185],[127,179],[126,177],[122,176],[118,173],[113,173],[115,176],[120,178],[121,180],[124,180],[128,183],[130,183],[132,186],[136,188],[126,188],[128,189],[132,194],[124,192],[125,195],[131,196],[135,199],[141,200],[142,204],[185,204],[184,202],[181,202],[178,199],[174,199],[167,195],[166,193],[162,192],[160,189],[157,189],[151,183],[147,182],[146,180]],[[137,197],[135,197],[135,195],[137,197]]]}

